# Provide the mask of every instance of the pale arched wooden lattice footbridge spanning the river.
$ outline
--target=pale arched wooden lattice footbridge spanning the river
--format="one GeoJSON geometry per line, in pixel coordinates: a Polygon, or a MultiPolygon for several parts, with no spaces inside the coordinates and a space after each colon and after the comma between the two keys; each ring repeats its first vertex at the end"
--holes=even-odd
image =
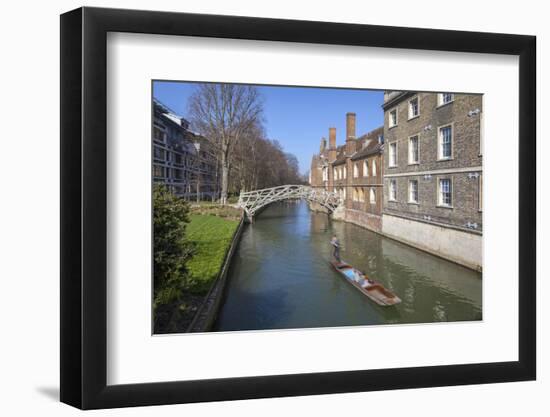
{"type": "Polygon", "coordinates": [[[279,187],[264,188],[263,190],[241,193],[238,206],[241,207],[249,219],[262,207],[277,201],[288,199],[305,199],[314,201],[333,212],[340,205],[338,194],[323,189],[312,188],[307,185],[281,185],[279,187]]]}

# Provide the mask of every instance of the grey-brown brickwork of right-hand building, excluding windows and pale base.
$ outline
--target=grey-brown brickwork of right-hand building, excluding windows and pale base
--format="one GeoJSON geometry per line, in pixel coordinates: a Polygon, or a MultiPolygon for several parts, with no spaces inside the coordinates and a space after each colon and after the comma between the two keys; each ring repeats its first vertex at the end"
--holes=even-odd
{"type": "Polygon", "coordinates": [[[384,212],[427,222],[482,230],[480,206],[482,96],[456,94],[451,103],[438,106],[437,94],[409,94],[385,108],[384,117],[384,212]],[[418,98],[420,114],[409,119],[409,101],[418,98]],[[389,114],[397,110],[398,123],[389,127],[389,114]],[[452,156],[441,160],[439,127],[452,126],[452,156]],[[418,136],[418,163],[409,161],[409,138],[418,136]],[[397,144],[397,166],[389,166],[390,146],[397,144]],[[466,171],[466,172],[460,172],[466,171]],[[425,176],[428,173],[428,176],[425,176]],[[431,176],[430,176],[431,175],[431,176]],[[438,181],[452,181],[452,207],[438,205],[438,181]],[[397,186],[397,201],[389,199],[390,180],[397,186]],[[418,181],[418,204],[409,202],[409,180],[418,181]],[[475,227],[474,227],[475,226],[475,227]]]}

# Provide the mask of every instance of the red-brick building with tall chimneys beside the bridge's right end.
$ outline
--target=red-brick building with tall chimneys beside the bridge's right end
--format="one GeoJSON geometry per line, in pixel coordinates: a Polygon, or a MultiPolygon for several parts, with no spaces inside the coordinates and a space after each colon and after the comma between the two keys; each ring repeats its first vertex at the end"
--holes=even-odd
{"type": "Polygon", "coordinates": [[[329,128],[328,147],[322,138],[310,170],[312,187],[334,191],[343,200],[335,218],[377,232],[382,228],[383,131],[379,127],[356,137],[356,115],[346,114],[346,143],[337,146],[336,128],[329,128]]]}

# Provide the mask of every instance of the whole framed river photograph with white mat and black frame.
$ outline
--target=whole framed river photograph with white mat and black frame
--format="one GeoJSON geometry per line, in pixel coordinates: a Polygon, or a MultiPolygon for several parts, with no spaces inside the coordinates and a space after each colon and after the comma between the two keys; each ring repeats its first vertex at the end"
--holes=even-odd
{"type": "Polygon", "coordinates": [[[533,380],[535,37],[61,16],[61,401],[533,380]]]}

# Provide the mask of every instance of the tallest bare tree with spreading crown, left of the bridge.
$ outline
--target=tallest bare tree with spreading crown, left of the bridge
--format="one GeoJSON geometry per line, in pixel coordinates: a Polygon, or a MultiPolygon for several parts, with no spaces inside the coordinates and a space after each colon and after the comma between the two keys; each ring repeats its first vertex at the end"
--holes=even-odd
{"type": "Polygon", "coordinates": [[[227,203],[233,150],[250,129],[261,123],[262,110],[260,94],[253,86],[199,84],[189,100],[194,128],[212,142],[219,155],[222,204],[227,203]]]}

